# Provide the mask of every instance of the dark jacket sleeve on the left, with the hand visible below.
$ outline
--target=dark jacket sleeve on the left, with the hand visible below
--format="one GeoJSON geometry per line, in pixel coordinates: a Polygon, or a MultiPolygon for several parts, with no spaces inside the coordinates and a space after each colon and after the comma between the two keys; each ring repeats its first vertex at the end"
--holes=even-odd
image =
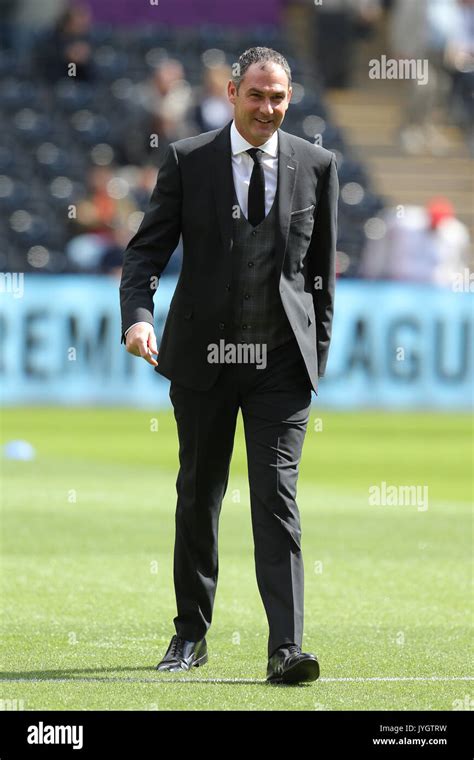
{"type": "Polygon", "coordinates": [[[153,325],[153,295],[181,234],[182,185],[176,148],[171,143],[138,231],[124,253],[120,281],[121,343],[134,322],[153,325]]]}

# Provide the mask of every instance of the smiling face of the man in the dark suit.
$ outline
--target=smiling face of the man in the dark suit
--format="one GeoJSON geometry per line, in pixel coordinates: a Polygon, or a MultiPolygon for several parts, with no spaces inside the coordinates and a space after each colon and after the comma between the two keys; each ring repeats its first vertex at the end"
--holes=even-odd
{"type": "Polygon", "coordinates": [[[277,63],[253,63],[245,72],[239,91],[232,81],[227,95],[234,105],[235,126],[245,139],[263,145],[282,123],[291,100],[291,87],[284,69],[277,63]]]}

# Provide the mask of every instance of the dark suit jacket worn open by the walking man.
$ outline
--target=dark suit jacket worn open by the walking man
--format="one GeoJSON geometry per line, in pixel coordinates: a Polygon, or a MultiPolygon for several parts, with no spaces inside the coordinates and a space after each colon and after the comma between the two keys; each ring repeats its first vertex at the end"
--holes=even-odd
{"type": "MultiPolygon", "coordinates": [[[[156,371],[196,390],[220,370],[208,345],[231,323],[231,121],[171,143],[149,210],[124,256],[122,343],[134,322],[153,324],[153,295],[183,236],[183,264],[156,371]]],[[[283,307],[314,391],[324,374],[334,305],[339,182],[333,153],[282,129],[278,153],[276,267],[283,307]]]]}

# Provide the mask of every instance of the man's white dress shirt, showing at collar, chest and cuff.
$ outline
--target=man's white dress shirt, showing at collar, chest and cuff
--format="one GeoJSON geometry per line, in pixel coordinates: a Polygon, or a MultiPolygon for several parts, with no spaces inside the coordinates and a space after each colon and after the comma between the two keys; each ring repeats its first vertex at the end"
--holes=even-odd
{"type": "MultiPolygon", "coordinates": [[[[248,148],[255,148],[255,145],[247,142],[245,137],[242,137],[235,121],[232,120],[230,126],[230,147],[232,152],[232,175],[234,177],[235,193],[237,200],[239,201],[240,208],[245,216],[248,218],[248,195],[250,177],[254,167],[254,161],[246,150],[248,148]]],[[[265,216],[269,213],[273,201],[275,200],[275,194],[278,183],[278,130],[275,131],[263,145],[258,146],[260,150],[264,152],[262,156],[263,173],[265,176],[265,216]]],[[[134,322],[133,325],[125,330],[125,335],[128,331],[134,327],[134,325],[149,324],[148,322],[134,322]]]]}

